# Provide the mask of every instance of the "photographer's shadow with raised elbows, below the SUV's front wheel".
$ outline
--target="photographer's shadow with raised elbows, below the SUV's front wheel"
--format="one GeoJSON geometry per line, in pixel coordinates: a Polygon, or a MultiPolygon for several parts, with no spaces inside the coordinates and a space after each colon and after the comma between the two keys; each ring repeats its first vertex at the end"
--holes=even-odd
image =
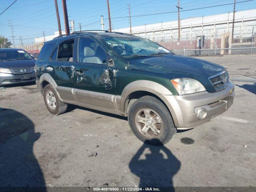
{"type": "MultiPolygon", "coordinates": [[[[174,191],[172,178],[180,169],[180,161],[162,144],[153,146],[147,143],[130,161],[131,172],[140,177],[140,187],[160,187],[161,191],[174,191]]],[[[160,141],[153,139],[153,143],[160,141]]]]}

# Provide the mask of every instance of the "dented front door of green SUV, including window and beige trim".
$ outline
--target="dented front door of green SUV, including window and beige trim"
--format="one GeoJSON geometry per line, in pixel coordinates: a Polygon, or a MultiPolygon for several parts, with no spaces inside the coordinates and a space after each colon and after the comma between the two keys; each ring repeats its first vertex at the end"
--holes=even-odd
{"type": "Polygon", "coordinates": [[[113,108],[116,96],[116,69],[105,50],[90,38],[80,38],[74,68],[76,100],[113,108]]]}

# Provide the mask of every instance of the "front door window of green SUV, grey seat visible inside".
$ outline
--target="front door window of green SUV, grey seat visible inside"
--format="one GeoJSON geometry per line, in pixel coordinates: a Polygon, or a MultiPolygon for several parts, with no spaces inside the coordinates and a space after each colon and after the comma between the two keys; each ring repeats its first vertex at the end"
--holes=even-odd
{"type": "Polygon", "coordinates": [[[107,55],[104,49],[90,38],[79,40],[79,62],[106,64],[107,55]]]}

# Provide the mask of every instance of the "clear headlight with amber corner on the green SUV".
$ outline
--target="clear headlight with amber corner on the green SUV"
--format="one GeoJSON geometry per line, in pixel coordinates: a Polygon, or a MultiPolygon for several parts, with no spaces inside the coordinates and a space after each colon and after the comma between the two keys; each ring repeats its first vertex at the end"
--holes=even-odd
{"type": "Polygon", "coordinates": [[[181,78],[171,79],[173,86],[176,88],[179,95],[186,95],[206,91],[204,86],[195,79],[181,78]]]}

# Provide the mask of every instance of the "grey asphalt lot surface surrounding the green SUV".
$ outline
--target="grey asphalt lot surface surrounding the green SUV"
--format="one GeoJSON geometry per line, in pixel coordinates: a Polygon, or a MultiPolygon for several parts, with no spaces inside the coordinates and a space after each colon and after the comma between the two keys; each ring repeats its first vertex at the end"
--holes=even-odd
{"type": "MultiPolygon", "coordinates": [[[[203,59],[225,66],[230,78],[256,77],[256,56],[203,59]]],[[[6,86],[0,186],[256,187],[256,84],[234,83],[228,111],[163,147],[140,142],[126,118],[76,106],[54,116],[35,84],[6,86]]]]}

